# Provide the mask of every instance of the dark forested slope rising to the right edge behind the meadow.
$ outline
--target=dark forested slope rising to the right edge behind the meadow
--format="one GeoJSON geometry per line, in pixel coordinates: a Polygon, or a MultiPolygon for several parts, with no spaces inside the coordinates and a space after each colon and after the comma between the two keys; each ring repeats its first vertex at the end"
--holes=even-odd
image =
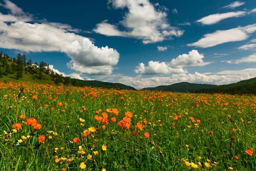
{"type": "Polygon", "coordinates": [[[233,84],[197,90],[198,93],[256,94],[256,77],[233,84]]]}

